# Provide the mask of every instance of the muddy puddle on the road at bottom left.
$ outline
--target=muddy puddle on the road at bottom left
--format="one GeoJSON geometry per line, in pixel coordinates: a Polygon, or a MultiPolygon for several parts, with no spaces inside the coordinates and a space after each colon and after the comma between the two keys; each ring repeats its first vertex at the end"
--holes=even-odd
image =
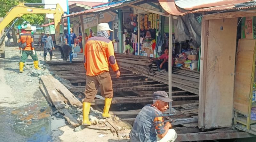
{"type": "Polygon", "coordinates": [[[55,110],[43,98],[36,99],[25,107],[12,108],[14,131],[28,142],[59,141],[58,136],[62,132],[58,128],[65,125],[65,120],[61,116],[51,116],[53,111],[55,110]]]}

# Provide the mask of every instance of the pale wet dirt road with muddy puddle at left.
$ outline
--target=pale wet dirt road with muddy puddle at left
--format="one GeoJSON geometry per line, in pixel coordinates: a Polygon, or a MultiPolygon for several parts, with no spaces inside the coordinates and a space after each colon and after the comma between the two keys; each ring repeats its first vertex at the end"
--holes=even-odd
{"type": "Polygon", "coordinates": [[[20,54],[17,47],[6,47],[0,59],[0,141],[93,142],[120,141],[110,131],[84,129],[75,132],[55,111],[39,90],[39,78],[32,75],[31,57],[19,73],[20,54]],[[3,136],[3,137],[2,137],[3,136]]]}

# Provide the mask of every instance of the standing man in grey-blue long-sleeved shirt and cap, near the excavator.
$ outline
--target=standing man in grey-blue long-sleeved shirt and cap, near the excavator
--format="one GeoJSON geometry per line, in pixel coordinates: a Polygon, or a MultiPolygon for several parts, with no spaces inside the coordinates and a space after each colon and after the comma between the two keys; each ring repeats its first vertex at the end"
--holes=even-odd
{"type": "Polygon", "coordinates": [[[46,61],[47,52],[49,52],[50,61],[52,61],[52,49],[54,50],[55,48],[54,48],[52,37],[50,36],[49,31],[47,31],[46,35],[44,35],[43,42],[44,42],[44,62],[46,61]]]}

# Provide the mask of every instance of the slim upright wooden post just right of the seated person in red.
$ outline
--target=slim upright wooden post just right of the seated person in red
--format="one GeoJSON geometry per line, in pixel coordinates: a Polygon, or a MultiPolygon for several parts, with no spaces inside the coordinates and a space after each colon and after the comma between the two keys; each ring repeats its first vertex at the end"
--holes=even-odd
{"type": "MultiPolygon", "coordinates": [[[[172,15],[169,15],[169,59],[168,59],[169,98],[172,99],[172,15]]],[[[169,102],[169,114],[172,114],[172,102],[169,102]]]]}

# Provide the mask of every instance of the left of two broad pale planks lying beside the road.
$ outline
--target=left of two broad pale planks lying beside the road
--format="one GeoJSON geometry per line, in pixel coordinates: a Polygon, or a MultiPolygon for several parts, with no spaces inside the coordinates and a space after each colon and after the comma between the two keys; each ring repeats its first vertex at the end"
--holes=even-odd
{"type": "Polygon", "coordinates": [[[50,79],[47,76],[41,76],[41,80],[43,82],[45,92],[47,96],[49,96],[55,108],[60,109],[65,107],[65,103],[59,98],[59,92],[55,89],[54,84],[50,81],[50,79]]]}

